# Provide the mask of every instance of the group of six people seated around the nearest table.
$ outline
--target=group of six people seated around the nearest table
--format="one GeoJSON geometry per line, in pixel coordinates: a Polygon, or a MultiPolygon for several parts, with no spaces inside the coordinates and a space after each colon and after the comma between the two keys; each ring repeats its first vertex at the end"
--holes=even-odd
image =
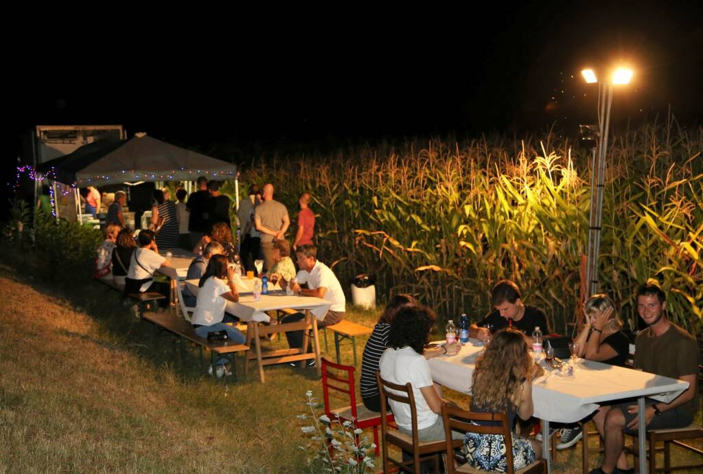
{"type": "MultiPolygon", "coordinates": [[[[666,294],[656,283],[646,283],[636,293],[638,314],[647,325],[636,339],[635,368],[689,383],[688,390],[671,403],[649,400],[644,423],[647,428],[682,428],[692,423],[696,409],[696,378],[699,353],[697,343],[683,328],[673,324],[666,315],[666,294]]],[[[548,328],[541,309],[524,305],[520,290],[512,281],[500,281],[491,293],[491,312],[472,325],[472,338],[490,343],[475,363],[472,378],[470,411],[505,412],[511,428],[517,418],[528,420],[534,414],[531,383],[543,369],[529,352],[531,334],[536,326],[548,328]]],[[[628,338],[615,306],[606,295],[593,295],[584,305],[586,323],[574,339],[579,342],[578,357],[605,364],[624,366],[629,354],[628,338]]],[[[396,295],[389,300],[363,352],[361,366],[361,395],[372,411],[380,411],[380,395],[375,372],[389,382],[411,383],[416,404],[418,439],[444,440],[441,413],[441,387],[434,383],[427,359],[438,355],[458,353],[456,343],[427,347],[434,324],[434,312],[419,305],[410,295],[396,295]]],[[[388,400],[401,432],[411,435],[412,418],[406,404],[388,400]]],[[[636,432],[637,407],[633,400],[601,406],[593,414],[598,432],[605,440],[602,466],[591,474],[633,473],[624,456],[623,433],[636,432]]],[[[582,422],[588,421],[588,418],[582,422]]],[[[583,434],[581,423],[558,428],[565,449],[583,434]]],[[[550,433],[550,435],[553,433],[550,433]]],[[[465,456],[479,470],[505,472],[505,443],[494,435],[469,433],[464,438],[465,456]]],[[[515,470],[528,466],[541,456],[541,442],[535,438],[512,437],[512,457],[515,470]]]]}

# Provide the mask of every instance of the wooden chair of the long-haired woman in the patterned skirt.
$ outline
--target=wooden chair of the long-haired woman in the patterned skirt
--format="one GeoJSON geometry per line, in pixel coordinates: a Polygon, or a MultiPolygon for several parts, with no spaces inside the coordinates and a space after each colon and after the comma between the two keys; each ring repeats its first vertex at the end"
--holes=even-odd
{"type": "Polygon", "coordinates": [[[517,471],[515,470],[512,463],[512,435],[510,434],[510,426],[508,426],[508,416],[505,412],[495,414],[473,413],[455,406],[443,404],[441,407],[441,416],[444,419],[444,436],[446,438],[444,445],[446,449],[447,473],[486,473],[485,470],[472,468],[468,463],[456,469],[454,468],[454,463],[452,462],[454,449],[460,447],[463,444],[463,440],[452,440],[452,431],[479,433],[481,435],[503,435],[505,438],[505,456],[508,459],[508,474],[539,474],[547,472],[547,462],[544,459],[538,459],[527,467],[517,471]],[[471,421],[500,421],[501,424],[497,426],[485,426],[475,425],[471,423],[471,421]]]}

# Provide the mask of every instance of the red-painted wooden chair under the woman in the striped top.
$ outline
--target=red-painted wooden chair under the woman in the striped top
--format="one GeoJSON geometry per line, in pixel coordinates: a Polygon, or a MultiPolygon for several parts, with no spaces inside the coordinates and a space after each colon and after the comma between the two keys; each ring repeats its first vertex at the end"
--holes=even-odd
{"type": "MultiPolygon", "coordinates": [[[[325,415],[330,420],[339,418],[340,423],[352,421],[355,428],[361,430],[373,428],[373,442],[376,444],[376,456],[380,453],[380,442],[378,439],[378,427],[381,425],[381,414],[377,411],[370,411],[363,403],[356,403],[356,392],[354,390],[354,367],[343,366],[322,358],[322,394],[325,402],[325,415]],[[334,371],[330,373],[329,369],[334,371]],[[342,408],[330,409],[330,390],[336,390],[349,395],[349,405],[342,408]]],[[[393,415],[387,416],[387,422],[393,422],[393,415]]],[[[359,436],[356,438],[356,445],[359,445],[359,436]]]]}

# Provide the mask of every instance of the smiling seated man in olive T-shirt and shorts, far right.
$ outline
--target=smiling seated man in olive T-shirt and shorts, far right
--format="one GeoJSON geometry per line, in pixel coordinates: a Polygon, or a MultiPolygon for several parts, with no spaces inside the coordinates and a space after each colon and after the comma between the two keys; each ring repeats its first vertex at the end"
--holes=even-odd
{"type": "MultiPolygon", "coordinates": [[[[684,428],[693,422],[697,410],[696,375],[699,352],[696,340],[666,316],[666,293],[656,283],[647,282],[637,290],[637,311],[647,329],[637,335],[637,369],[688,382],[688,389],[671,403],[645,400],[644,423],[650,429],[684,428]]],[[[591,474],[634,473],[623,452],[623,433],[636,433],[640,420],[636,402],[602,406],[593,416],[604,435],[605,457],[591,474]]]]}

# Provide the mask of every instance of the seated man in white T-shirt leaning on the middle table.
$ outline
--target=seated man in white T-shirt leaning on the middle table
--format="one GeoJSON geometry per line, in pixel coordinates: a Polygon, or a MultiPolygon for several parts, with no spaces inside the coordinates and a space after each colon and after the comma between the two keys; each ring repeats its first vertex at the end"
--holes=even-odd
{"type": "MultiPolygon", "coordinates": [[[[300,245],[295,252],[295,257],[300,271],[295,276],[297,283],[295,280],[292,283],[292,290],[298,295],[314,296],[330,302],[330,309],[325,314],[325,319],[318,322],[318,327],[322,328],[342,321],[347,302],[344,291],[342,291],[340,281],[337,280],[330,267],[317,260],[315,245],[300,245]],[[304,283],[307,283],[307,288],[301,288],[300,285],[304,283]]],[[[271,277],[278,278],[281,288],[288,286],[288,281],[285,281],[283,276],[272,274],[271,277]]],[[[290,314],[290,316],[281,319],[281,323],[292,323],[304,317],[302,313],[290,314]]],[[[285,337],[288,338],[288,345],[292,349],[303,347],[303,331],[290,331],[285,333],[285,337]]],[[[308,349],[309,351],[310,349],[308,349]]],[[[314,366],[314,363],[315,361],[312,360],[308,366],[314,366]]]]}

